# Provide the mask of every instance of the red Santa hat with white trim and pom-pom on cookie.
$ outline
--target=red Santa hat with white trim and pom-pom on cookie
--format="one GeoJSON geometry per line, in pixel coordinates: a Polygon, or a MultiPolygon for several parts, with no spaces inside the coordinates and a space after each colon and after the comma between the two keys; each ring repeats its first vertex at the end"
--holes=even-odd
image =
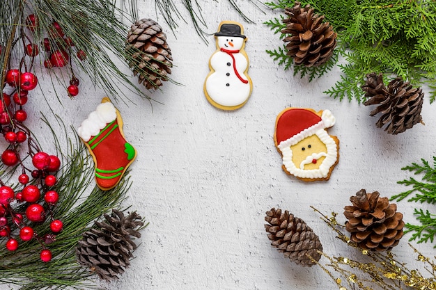
{"type": "Polygon", "coordinates": [[[316,113],[310,108],[286,108],[277,117],[274,140],[279,149],[292,146],[335,122],[329,110],[316,113]]]}

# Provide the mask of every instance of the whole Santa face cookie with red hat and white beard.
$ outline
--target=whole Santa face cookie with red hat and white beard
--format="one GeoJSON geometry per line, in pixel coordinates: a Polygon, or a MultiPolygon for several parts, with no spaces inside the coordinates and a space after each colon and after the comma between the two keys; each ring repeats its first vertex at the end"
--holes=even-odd
{"type": "Polygon", "coordinates": [[[277,116],[274,143],[283,170],[305,182],[328,180],[339,159],[339,140],[327,133],[336,119],[329,110],[286,108],[277,116]]]}

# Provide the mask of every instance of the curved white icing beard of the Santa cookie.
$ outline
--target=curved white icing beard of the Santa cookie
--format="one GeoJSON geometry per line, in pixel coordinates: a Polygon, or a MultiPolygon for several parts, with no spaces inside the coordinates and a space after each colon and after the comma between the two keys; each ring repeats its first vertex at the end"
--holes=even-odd
{"type": "Polygon", "coordinates": [[[325,156],[325,159],[322,161],[318,169],[300,169],[293,163],[293,152],[292,150],[290,150],[290,146],[297,144],[299,140],[298,142],[295,142],[295,144],[280,148],[281,154],[283,156],[283,166],[285,166],[286,170],[291,175],[304,179],[322,179],[326,178],[329,175],[330,168],[334,166],[334,163],[336,163],[337,160],[338,147],[334,139],[329,136],[329,134],[327,134],[327,131],[325,131],[324,129],[316,131],[315,134],[316,136],[318,136],[318,138],[320,138],[322,143],[325,144],[325,147],[327,147],[327,154],[325,156]]]}

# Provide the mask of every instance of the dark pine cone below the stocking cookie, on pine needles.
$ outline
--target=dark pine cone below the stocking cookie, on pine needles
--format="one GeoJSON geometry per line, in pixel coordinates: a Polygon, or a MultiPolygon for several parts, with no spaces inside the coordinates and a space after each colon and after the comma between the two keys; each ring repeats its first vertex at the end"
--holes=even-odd
{"type": "Polygon", "coordinates": [[[95,222],[95,228],[82,234],[78,241],[76,255],[79,264],[88,266],[103,280],[118,279],[118,274],[130,265],[132,252],[137,245],[130,236],[139,238],[136,230],[143,225],[136,212],[124,216],[123,212],[112,209],[112,214],[104,214],[107,222],[95,222]]]}

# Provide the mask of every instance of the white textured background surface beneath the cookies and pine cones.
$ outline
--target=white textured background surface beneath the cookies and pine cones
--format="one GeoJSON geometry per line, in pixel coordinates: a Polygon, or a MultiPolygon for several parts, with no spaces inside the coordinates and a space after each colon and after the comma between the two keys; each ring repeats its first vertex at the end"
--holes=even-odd
{"type": "MultiPolygon", "coordinates": [[[[150,225],[142,231],[130,269],[119,281],[101,287],[336,290],[321,268],[299,268],[272,248],[263,227],[265,211],[288,209],[320,236],[327,254],[348,255],[350,249],[334,239],[334,233],[309,206],[326,214],[341,213],[350,204],[350,195],[361,188],[380,191],[382,196],[404,191],[405,186],[396,182],[409,173],[400,168],[421,157],[430,161],[435,155],[435,105],[428,99],[424,102],[425,126],[417,124],[399,136],[389,136],[375,128],[377,118],[368,116],[372,108],[322,94],[338,79],[337,67],[309,83],[274,63],[265,50],[278,47],[281,40],[263,22],[276,13],[265,8],[264,14],[249,1],[238,1],[255,22],[248,24],[227,1],[203,1],[208,32],[215,33],[222,20],[235,20],[244,25],[248,37],[245,49],[254,83],[252,95],[238,111],[220,111],[203,94],[208,60],[216,49],[213,36],[205,45],[189,20],[180,20],[176,37],[162,16],[156,15],[154,1],[139,2],[139,17],[156,19],[166,31],[175,65],[171,76],[183,86],[165,83],[162,91],[153,92],[152,97],[163,104],[151,106],[138,99],[136,104],[116,104],[125,122],[125,136],[138,150],[125,205],[133,204],[150,225]],[[276,116],[287,106],[329,109],[336,116],[329,133],[341,141],[341,157],[328,182],[299,182],[281,170],[272,136],[276,116]]],[[[182,4],[178,6],[188,19],[182,4]]],[[[38,97],[29,97],[26,105],[33,112],[29,126],[34,130],[45,127],[37,112],[48,112],[38,97]]],[[[75,100],[65,97],[63,106],[56,101],[51,106],[66,125],[77,128],[102,97],[101,90],[83,81],[75,100]]],[[[406,221],[416,223],[415,206],[419,204],[398,202],[398,211],[406,221]]],[[[344,221],[342,214],[338,219],[344,221]]],[[[394,252],[414,268],[409,237],[394,252]]],[[[418,247],[434,255],[432,245],[418,247]]]]}

